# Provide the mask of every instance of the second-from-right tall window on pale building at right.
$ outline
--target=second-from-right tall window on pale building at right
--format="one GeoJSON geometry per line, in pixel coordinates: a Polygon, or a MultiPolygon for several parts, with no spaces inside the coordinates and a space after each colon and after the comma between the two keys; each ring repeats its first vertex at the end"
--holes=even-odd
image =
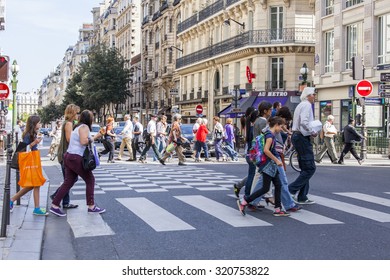
{"type": "Polygon", "coordinates": [[[345,69],[352,68],[352,57],[363,56],[363,28],[362,23],[347,26],[347,53],[345,69]]]}

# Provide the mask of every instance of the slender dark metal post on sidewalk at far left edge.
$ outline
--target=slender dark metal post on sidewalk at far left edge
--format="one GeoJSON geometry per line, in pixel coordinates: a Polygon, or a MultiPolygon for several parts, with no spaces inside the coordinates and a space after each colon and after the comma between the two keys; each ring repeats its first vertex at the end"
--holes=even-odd
{"type": "Polygon", "coordinates": [[[9,204],[11,200],[11,162],[12,162],[11,134],[7,135],[7,166],[4,183],[3,213],[1,219],[0,237],[7,237],[7,225],[10,222],[9,204]]]}

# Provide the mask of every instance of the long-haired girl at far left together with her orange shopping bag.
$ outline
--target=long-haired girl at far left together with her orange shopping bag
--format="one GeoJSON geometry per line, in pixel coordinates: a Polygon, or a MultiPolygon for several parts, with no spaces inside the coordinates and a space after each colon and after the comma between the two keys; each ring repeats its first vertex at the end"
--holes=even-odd
{"type": "MultiPolygon", "coordinates": [[[[26,124],[26,129],[24,130],[22,134],[23,138],[23,143],[27,145],[27,149],[31,149],[31,151],[38,151],[38,144],[42,141],[43,135],[38,135],[39,129],[41,128],[41,118],[39,116],[29,116],[27,119],[27,124],[26,124]]],[[[28,153],[28,152],[27,152],[28,153]]],[[[23,154],[27,154],[23,153],[23,154]]],[[[21,156],[21,153],[19,153],[19,157],[21,156]]],[[[23,183],[19,182],[19,184],[23,187],[20,191],[18,191],[13,197],[11,197],[10,201],[10,211],[12,212],[14,209],[14,202],[21,198],[23,195],[28,193],[29,191],[33,190],[33,197],[34,197],[34,210],[33,210],[33,215],[37,216],[46,216],[48,213],[46,212],[45,208],[41,208],[39,206],[39,190],[40,187],[45,183],[45,179],[42,176],[42,167],[40,166],[40,157],[35,157],[36,160],[39,160],[38,166],[40,170],[37,170],[38,172],[40,171],[41,173],[36,176],[36,179],[40,181],[39,186],[22,186],[24,185],[23,183]]],[[[21,160],[19,160],[19,166],[21,160]]],[[[23,161],[23,164],[26,164],[25,161],[23,161]]],[[[27,168],[27,170],[32,170],[31,168],[27,168]]],[[[24,168],[20,168],[20,175],[21,175],[21,181],[24,181],[24,168]]],[[[31,173],[28,175],[30,178],[26,179],[33,179],[31,178],[31,173]]],[[[35,176],[34,176],[35,177],[35,176]]]]}

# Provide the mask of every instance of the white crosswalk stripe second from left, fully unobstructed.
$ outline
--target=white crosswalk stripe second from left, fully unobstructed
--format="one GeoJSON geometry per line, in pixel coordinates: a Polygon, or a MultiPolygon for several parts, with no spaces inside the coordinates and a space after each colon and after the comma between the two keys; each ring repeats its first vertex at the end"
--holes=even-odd
{"type": "Polygon", "coordinates": [[[117,198],[116,200],[157,232],[195,229],[144,197],[117,198]]]}

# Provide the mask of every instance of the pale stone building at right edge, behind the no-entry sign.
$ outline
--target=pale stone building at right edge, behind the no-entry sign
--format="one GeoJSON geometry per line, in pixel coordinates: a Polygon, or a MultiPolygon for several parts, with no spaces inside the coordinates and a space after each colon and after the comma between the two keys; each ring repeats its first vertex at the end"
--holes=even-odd
{"type": "MultiPolygon", "coordinates": [[[[389,98],[379,95],[380,76],[390,75],[390,6],[385,0],[316,1],[316,55],[314,82],[318,90],[316,115],[324,120],[335,116],[342,129],[350,117],[362,113],[362,99],[356,93],[358,80],[352,77],[352,60],[357,79],[373,83],[365,98],[368,146],[381,152],[387,146],[389,98]],[[374,143],[374,141],[376,143],[374,143]]],[[[390,95],[389,95],[390,97],[390,95]]]]}

